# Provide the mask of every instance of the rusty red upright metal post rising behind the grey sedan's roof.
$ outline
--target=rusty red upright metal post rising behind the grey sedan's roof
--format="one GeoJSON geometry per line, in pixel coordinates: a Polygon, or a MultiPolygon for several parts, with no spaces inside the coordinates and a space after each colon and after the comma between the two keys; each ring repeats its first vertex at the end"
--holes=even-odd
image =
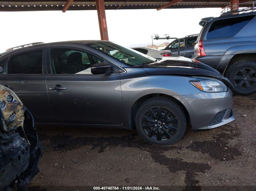
{"type": "Polygon", "coordinates": [[[101,40],[108,40],[108,28],[107,28],[104,0],[96,0],[96,8],[98,13],[101,40]]]}

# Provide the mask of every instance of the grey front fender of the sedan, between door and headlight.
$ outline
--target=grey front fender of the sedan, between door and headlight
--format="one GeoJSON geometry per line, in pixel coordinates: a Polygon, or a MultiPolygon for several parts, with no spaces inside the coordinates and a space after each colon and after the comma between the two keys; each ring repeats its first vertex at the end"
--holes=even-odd
{"type": "MultiPolygon", "coordinates": [[[[136,68],[140,70],[142,68],[136,68]]],[[[123,100],[123,125],[130,126],[130,113],[134,103],[143,96],[149,94],[166,94],[169,96],[181,96],[199,94],[200,90],[189,83],[192,77],[174,75],[151,75],[143,71],[133,73],[128,69],[126,74],[121,74],[121,92],[123,100]],[[135,77],[134,75],[138,75],[135,77]],[[131,78],[132,77],[132,78],[131,78]]]]}

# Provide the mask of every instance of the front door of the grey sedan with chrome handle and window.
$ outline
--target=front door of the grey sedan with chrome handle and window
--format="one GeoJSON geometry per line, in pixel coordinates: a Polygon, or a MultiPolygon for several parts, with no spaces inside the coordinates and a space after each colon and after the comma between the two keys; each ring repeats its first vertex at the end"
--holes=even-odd
{"type": "Polygon", "coordinates": [[[122,96],[118,66],[84,49],[48,49],[47,90],[54,123],[122,124],[122,96]],[[91,74],[91,65],[105,62],[111,75],[91,74]]]}

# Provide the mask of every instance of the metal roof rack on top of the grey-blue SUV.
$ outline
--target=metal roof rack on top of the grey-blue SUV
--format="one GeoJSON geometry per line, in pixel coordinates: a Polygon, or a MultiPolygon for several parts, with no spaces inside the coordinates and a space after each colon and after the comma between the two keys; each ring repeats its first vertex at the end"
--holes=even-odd
{"type": "Polygon", "coordinates": [[[233,5],[228,5],[221,11],[221,16],[228,16],[228,15],[234,15],[234,14],[243,14],[243,13],[249,13],[256,11],[256,1],[248,1],[245,3],[236,3],[233,5]],[[245,8],[238,8],[238,5],[252,5],[252,7],[245,7],[245,8]]]}

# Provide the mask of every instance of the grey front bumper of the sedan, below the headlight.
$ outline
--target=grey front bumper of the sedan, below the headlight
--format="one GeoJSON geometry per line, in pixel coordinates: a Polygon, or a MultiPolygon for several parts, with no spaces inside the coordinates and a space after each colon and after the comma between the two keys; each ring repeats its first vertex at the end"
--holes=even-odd
{"type": "Polygon", "coordinates": [[[174,96],[187,109],[192,131],[213,129],[235,119],[233,96],[227,92],[209,93],[201,91],[195,95],[174,96]]]}

